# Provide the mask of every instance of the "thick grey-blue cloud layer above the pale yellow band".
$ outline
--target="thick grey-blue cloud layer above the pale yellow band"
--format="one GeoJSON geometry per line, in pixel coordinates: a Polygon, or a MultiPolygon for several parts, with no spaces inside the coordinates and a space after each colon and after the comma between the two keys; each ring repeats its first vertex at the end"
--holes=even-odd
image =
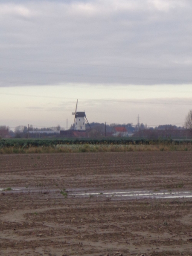
{"type": "Polygon", "coordinates": [[[191,13],[189,0],[1,1],[0,86],[190,83],[191,13]]]}

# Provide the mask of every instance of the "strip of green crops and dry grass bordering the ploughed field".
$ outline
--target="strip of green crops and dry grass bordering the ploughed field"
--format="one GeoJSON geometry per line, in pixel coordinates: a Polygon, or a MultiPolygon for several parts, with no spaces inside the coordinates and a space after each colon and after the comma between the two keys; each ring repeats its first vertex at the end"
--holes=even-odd
{"type": "MultiPolygon", "coordinates": [[[[130,140],[114,138],[103,140],[79,139],[1,139],[0,154],[78,153],[126,151],[190,151],[189,140],[130,140]]],[[[37,157],[40,159],[40,156],[37,157]]]]}

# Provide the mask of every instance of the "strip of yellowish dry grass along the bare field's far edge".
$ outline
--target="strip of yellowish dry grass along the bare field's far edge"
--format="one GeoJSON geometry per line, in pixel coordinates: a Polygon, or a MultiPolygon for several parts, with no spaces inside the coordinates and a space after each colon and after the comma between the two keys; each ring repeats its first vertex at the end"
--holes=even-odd
{"type": "Polygon", "coordinates": [[[55,147],[5,147],[0,154],[34,154],[34,153],[78,153],[78,152],[127,152],[127,151],[191,151],[192,144],[182,145],[57,145],[55,147]]]}

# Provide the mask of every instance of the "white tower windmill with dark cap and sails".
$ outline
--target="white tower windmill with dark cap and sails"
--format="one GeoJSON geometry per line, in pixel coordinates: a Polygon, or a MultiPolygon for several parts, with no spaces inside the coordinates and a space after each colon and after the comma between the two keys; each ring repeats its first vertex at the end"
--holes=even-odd
{"type": "MultiPolygon", "coordinates": [[[[77,99],[78,103],[78,99],[77,99]]],[[[73,122],[73,129],[75,131],[85,131],[85,120],[87,121],[88,125],[90,126],[85,112],[77,112],[77,103],[76,103],[76,111],[72,112],[72,115],[75,115],[74,122],[73,122]]],[[[91,128],[91,127],[90,127],[91,128]]]]}

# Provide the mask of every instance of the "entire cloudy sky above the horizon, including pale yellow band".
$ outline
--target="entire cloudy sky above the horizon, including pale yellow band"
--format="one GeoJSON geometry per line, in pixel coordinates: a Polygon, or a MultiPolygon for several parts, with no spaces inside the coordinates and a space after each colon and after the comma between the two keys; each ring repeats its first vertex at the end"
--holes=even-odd
{"type": "Polygon", "coordinates": [[[1,0],[0,125],[183,126],[191,0],[1,0]]]}

